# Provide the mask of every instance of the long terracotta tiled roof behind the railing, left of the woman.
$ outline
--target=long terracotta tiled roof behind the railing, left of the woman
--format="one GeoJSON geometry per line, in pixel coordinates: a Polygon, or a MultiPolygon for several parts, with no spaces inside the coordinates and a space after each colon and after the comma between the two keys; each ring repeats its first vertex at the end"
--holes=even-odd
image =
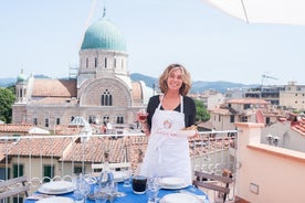
{"type": "MultiPolygon", "coordinates": [[[[85,143],[81,138],[45,138],[21,139],[9,151],[9,156],[53,157],[65,162],[104,162],[105,148],[111,149],[109,162],[128,161],[137,164],[138,149],[146,151],[147,137],[129,137],[112,139],[109,137],[92,137],[85,143]],[[126,148],[125,148],[126,147],[126,148]],[[127,149],[127,159],[125,158],[127,149]]],[[[3,158],[4,152],[0,152],[3,158]]]]}

